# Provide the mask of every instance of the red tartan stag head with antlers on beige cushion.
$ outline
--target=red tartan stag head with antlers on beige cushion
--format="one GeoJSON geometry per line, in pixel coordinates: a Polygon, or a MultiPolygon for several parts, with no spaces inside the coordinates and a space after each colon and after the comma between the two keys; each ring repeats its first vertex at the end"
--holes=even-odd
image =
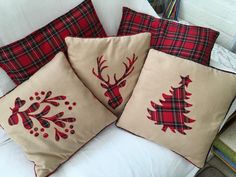
{"type": "Polygon", "coordinates": [[[134,64],[138,57],[133,54],[133,58],[130,59],[126,57],[128,60],[128,64],[123,62],[125,66],[125,72],[124,74],[117,79],[116,74],[114,74],[114,83],[111,84],[110,82],[110,76],[107,75],[107,80],[102,76],[102,72],[104,69],[108,68],[108,66],[104,66],[103,64],[107,60],[102,60],[103,56],[97,58],[97,73],[95,72],[95,69],[93,68],[92,72],[93,74],[101,81],[102,88],[106,89],[106,92],[104,95],[108,97],[108,105],[111,106],[113,109],[116,109],[122,102],[123,98],[120,94],[120,88],[124,87],[126,85],[126,78],[128,75],[130,75],[134,70],[134,64]]]}

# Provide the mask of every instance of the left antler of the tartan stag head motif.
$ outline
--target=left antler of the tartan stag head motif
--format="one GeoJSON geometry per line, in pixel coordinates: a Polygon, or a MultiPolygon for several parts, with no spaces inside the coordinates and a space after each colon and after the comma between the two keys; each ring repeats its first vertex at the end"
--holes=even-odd
{"type": "Polygon", "coordinates": [[[93,68],[93,74],[100,79],[101,81],[103,81],[104,83],[106,83],[107,85],[110,85],[110,76],[107,75],[107,81],[103,78],[102,76],[102,71],[106,68],[108,68],[108,66],[103,66],[103,64],[107,61],[107,60],[102,60],[103,56],[98,57],[97,58],[97,67],[98,67],[98,73],[95,73],[95,69],[93,68]]]}

